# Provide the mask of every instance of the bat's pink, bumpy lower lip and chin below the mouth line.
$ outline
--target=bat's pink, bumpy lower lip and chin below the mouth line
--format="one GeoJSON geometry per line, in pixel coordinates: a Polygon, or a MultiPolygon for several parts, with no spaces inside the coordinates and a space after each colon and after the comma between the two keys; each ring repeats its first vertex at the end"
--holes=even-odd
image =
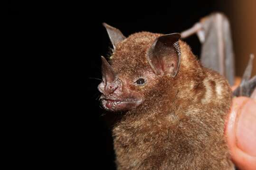
{"type": "Polygon", "coordinates": [[[113,100],[102,99],[101,105],[108,111],[125,111],[132,110],[138,107],[142,103],[142,100],[126,99],[126,100],[113,100]]]}

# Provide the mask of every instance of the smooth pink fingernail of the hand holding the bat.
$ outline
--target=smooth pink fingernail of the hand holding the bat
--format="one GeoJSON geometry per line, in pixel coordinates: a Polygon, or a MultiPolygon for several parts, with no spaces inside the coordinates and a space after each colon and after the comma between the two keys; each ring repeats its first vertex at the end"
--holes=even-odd
{"type": "Polygon", "coordinates": [[[256,102],[248,100],[237,116],[237,147],[256,156],[256,102]]]}

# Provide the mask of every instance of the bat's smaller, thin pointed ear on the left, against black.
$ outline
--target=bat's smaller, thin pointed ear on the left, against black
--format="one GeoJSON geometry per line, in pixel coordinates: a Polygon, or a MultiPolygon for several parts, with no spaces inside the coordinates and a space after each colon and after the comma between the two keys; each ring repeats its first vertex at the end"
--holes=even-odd
{"type": "Polygon", "coordinates": [[[106,28],[110,41],[112,42],[115,50],[116,44],[123,41],[126,37],[121,33],[119,29],[114,28],[113,26],[109,26],[106,23],[103,23],[103,26],[106,28]]]}

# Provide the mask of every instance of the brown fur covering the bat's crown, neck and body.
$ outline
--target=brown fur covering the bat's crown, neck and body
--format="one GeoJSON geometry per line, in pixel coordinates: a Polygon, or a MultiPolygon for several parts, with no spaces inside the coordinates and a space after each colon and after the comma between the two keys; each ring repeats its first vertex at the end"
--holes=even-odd
{"type": "Polygon", "coordinates": [[[232,170],[224,136],[232,98],[228,82],[203,68],[182,41],[177,76],[154,75],[146,53],[160,35],[132,34],[110,57],[121,78],[152,78],[144,87],[126,87],[145,101],[114,125],[118,170],[232,170]]]}

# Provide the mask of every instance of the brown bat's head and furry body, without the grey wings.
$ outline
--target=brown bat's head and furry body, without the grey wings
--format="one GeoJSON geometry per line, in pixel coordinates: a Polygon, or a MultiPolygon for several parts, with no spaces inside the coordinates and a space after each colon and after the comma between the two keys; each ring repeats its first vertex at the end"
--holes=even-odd
{"type": "Polygon", "coordinates": [[[103,108],[121,115],[112,129],[117,169],[234,170],[224,76],[203,67],[178,33],[126,38],[104,26],[114,51],[102,57],[98,90],[103,108]]]}

